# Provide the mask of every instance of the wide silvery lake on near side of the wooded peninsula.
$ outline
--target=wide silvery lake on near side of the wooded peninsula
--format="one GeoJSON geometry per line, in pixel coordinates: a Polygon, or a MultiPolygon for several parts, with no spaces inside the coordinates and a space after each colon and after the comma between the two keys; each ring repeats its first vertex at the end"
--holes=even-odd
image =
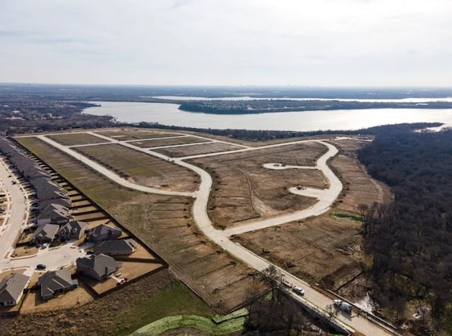
{"type": "Polygon", "coordinates": [[[160,123],[197,128],[245,130],[358,130],[397,123],[439,122],[452,126],[452,109],[370,108],[363,110],[301,111],[218,115],[180,111],[179,104],[91,101],[100,107],[85,113],[109,115],[125,123],[160,123]]]}

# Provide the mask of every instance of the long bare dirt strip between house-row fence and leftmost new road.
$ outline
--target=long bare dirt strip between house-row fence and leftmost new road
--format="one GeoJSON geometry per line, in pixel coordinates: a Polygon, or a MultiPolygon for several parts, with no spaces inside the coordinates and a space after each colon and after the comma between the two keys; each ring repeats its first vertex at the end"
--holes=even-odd
{"type": "Polygon", "coordinates": [[[18,139],[57,170],[66,180],[99,204],[124,228],[169,263],[174,273],[219,313],[227,313],[263,290],[254,270],[235,261],[208,241],[191,218],[193,199],[145,194],[117,185],[56,151],[40,139],[18,139]]]}

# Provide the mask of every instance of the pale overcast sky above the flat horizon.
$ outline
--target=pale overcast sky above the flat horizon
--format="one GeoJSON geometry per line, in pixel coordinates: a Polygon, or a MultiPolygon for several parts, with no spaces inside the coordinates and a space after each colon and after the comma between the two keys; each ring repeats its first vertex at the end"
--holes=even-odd
{"type": "Polygon", "coordinates": [[[0,82],[452,87],[451,0],[0,0],[0,82]]]}

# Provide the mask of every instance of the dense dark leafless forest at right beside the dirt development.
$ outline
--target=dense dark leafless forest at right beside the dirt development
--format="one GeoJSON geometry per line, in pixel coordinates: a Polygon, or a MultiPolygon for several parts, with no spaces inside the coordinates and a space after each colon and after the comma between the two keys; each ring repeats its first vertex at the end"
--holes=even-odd
{"type": "Polygon", "coordinates": [[[452,130],[382,127],[358,156],[393,192],[361,207],[375,297],[400,320],[416,304],[452,335],[452,130]]]}

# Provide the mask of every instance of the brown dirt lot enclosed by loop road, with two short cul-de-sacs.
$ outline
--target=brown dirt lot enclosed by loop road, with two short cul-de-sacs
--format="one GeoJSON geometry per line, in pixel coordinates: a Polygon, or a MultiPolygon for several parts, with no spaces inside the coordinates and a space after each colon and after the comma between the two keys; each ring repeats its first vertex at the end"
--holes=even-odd
{"type": "Polygon", "coordinates": [[[328,187],[320,170],[264,168],[265,163],[315,166],[326,152],[321,144],[294,144],[237,154],[197,158],[213,178],[208,215],[218,228],[306,209],[316,200],[290,194],[290,187],[328,187]]]}

